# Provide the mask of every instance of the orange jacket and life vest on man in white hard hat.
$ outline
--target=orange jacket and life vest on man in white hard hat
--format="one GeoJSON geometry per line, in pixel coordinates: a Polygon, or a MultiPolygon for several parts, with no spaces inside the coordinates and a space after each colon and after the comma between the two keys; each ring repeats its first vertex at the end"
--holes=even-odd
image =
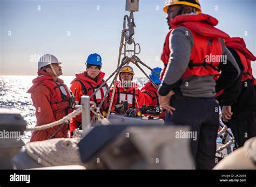
{"type": "MultiPolygon", "coordinates": [[[[28,90],[28,93],[31,93],[33,105],[37,109],[36,126],[41,126],[62,119],[69,113],[69,100],[72,93],[60,78],[55,81],[50,74],[43,70],[38,70],[37,74],[38,77],[32,81],[33,85],[28,90]],[[37,94],[34,92],[37,92],[37,94]],[[43,107],[42,111],[39,111],[38,107],[43,107]]],[[[67,138],[68,131],[68,124],[61,128],[59,125],[59,127],[55,126],[45,130],[33,131],[30,142],[47,140],[53,133],[56,133],[53,138],[67,138]]]]}

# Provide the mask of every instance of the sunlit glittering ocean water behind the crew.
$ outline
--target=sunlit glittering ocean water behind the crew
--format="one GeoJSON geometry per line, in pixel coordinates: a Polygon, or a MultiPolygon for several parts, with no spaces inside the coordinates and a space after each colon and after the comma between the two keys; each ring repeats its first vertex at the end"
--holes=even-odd
{"type": "MultiPolygon", "coordinates": [[[[30,94],[26,91],[32,86],[35,76],[1,76],[0,77],[0,107],[18,110],[26,121],[28,127],[36,125],[35,107],[33,107],[30,94]]],[[[70,82],[75,76],[60,76],[64,83],[70,87],[70,82]]],[[[142,88],[146,77],[134,77],[133,81],[142,88]]],[[[111,83],[111,80],[108,84],[111,83]]],[[[30,140],[31,132],[24,133],[22,140],[27,143],[30,140]]]]}

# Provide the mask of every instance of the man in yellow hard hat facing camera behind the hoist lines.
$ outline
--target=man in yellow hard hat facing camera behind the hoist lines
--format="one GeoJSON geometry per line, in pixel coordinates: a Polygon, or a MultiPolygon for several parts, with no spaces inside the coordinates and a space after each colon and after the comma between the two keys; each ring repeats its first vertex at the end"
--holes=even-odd
{"type": "MultiPolygon", "coordinates": [[[[112,112],[125,113],[126,111],[119,107],[123,101],[127,101],[127,108],[137,109],[145,105],[143,93],[139,90],[139,85],[132,81],[134,71],[131,66],[123,66],[119,73],[119,81],[117,81],[116,90],[112,104],[112,112]]],[[[110,90],[110,98],[113,88],[110,90]]]]}

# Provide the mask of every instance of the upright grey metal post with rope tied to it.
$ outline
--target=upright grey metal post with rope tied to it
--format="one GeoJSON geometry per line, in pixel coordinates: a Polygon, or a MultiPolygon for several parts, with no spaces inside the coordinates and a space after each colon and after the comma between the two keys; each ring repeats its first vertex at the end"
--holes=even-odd
{"type": "Polygon", "coordinates": [[[83,137],[85,134],[91,129],[91,115],[90,115],[90,97],[89,96],[82,96],[81,103],[83,106],[82,111],[82,130],[83,130],[83,137]]]}

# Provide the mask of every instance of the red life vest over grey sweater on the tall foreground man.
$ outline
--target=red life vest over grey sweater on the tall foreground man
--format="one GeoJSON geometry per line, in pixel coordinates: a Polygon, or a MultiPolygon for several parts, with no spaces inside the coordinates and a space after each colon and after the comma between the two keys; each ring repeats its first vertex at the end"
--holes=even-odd
{"type": "Polygon", "coordinates": [[[221,42],[219,38],[229,38],[229,36],[220,31],[214,26],[218,24],[218,20],[203,13],[199,15],[180,15],[171,19],[172,29],[167,34],[161,60],[164,62],[165,68],[161,72],[163,78],[165,69],[170,58],[169,37],[170,34],[178,27],[186,27],[193,35],[194,46],[192,48],[190,62],[181,78],[189,76],[206,76],[219,75],[217,67],[220,63],[220,58],[215,58],[212,62],[212,57],[223,55],[221,42]]]}

